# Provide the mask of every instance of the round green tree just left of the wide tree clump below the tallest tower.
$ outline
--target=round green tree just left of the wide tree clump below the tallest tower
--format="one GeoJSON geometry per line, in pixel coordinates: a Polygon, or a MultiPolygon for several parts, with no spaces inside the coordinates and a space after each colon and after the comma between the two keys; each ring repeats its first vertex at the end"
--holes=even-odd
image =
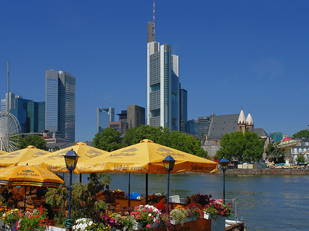
{"type": "Polygon", "coordinates": [[[95,134],[93,138],[93,146],[104,151],[115,151],[120,148],[120,132],[108,127],[102,130],[101,134],[95,134]]]}

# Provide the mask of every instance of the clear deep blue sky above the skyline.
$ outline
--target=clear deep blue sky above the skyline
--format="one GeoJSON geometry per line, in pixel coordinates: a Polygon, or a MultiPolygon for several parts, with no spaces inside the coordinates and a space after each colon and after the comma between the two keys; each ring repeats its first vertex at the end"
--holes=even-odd
{"type": "MultiPolygon", "coordinates": [[[[156,1],[156,40],[180,57],[188,119],[251,112],[254,127],[308,128],[309,1],[156,1]]],[[[45,101],[45,71],[76,77],[76,141],[96,108],[146,108],[152,1],[1,1],[0,98],[45,101]]]]}

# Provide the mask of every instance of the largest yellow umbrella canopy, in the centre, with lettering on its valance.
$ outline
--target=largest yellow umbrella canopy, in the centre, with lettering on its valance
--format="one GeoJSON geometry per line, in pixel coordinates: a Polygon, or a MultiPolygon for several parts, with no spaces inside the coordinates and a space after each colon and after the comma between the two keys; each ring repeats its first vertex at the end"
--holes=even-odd
{"type": "Polygon", "coordinates": [[[218,169],[218,163],[214,161],[159,145],[150,140],[143,140],[136,145],[111,151],[103,157],[80,161],[74,171],[76,173],[104,171],[167,173],[162,162],[166,156],[172,156],[176,160],[171,173],[183,171],[215,173],[218,169]]]}

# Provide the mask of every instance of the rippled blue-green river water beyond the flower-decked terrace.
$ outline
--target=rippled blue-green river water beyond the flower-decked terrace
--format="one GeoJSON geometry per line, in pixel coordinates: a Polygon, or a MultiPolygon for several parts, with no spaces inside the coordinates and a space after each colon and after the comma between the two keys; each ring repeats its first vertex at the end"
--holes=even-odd
{"type": "MultiPolygon", "coordinates": [[[[110,189],[128,193],[128,173],[108,175],[110,189]]],[[[78,179],[73,174],[73,182],[78,179]]],[[[87,174],[82,182],[87,182],[87,174]]],[[[148,174],[148,193],[166,193],[167,182],[167,174],[148,174]]],[[[170,195],[184,198],[202,193],[219,199],[222,189],[222,175],[170,174],[170,195]]],[[[130,174],[130,192],[145,194],[145,174],[130,174]]],[[[237,200],[238,219],[244,218],[247,230],[309,230],[308,175],[225,175],[225,198],[237,200]]]]}

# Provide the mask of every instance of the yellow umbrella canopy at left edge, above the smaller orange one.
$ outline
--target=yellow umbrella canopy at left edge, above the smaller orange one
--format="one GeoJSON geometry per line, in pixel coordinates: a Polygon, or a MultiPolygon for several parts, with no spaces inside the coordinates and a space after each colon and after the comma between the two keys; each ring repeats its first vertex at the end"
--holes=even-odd
{"type": "Polygon", "coordinates": [[[49,153],[49,151],[37,149],[36,147],[29,145],[24,149],[0,155],[0,168],[14,166],[19,162],[29,161],[40,156],[45,156],[49,153]]]}

